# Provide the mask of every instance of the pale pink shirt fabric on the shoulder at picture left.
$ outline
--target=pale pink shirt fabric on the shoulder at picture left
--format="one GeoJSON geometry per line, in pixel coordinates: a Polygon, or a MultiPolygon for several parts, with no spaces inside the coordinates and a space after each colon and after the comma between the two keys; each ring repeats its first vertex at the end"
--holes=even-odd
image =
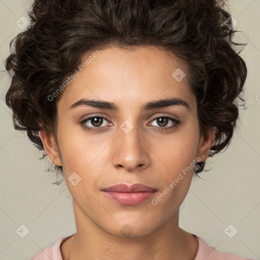
{"type": "Polygon", "coordinates": [[[34,255],[31,260],[63,260],[60,252],[60,245],[72,236],[73,235],[59,239],[53,245],[46,247],[43,251],[34,255]]]}

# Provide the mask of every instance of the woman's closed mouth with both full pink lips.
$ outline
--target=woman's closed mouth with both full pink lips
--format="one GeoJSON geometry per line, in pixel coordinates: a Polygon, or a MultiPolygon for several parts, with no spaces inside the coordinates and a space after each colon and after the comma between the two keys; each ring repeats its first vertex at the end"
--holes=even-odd
{"type": "Polygon", "coordinates": [[[141,183],[127,185],[119,183],[102,189],[105,196],[123,205],[137,205],[150,199],[157,189],[141,183]]]}

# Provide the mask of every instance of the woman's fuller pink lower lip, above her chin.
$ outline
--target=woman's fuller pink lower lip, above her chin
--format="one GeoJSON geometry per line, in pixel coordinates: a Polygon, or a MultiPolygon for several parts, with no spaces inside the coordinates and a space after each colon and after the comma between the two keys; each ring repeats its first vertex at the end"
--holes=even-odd
{"type": "Polygon", "coordinates": [[[142,191],[142,192],[114,192],[105,191],[105,196],[109,199],[124,205],[137,205],[150,199],[156,191],[142,191]]]}

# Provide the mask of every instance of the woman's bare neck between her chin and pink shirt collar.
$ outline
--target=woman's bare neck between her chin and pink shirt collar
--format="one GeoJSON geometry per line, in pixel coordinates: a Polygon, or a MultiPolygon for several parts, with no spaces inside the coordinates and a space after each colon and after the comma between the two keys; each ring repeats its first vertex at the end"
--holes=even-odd
{"type": "Polygon", "coordinates": [[[77,233],[60,247],[64,260],[117,260],[122,256],[125,260],[193,260],[197,254],[198,240],[178,226],[179,210],[159,229],[146,235],[115,236],[88,218],[74,201],[73,206],[77,233]]]}

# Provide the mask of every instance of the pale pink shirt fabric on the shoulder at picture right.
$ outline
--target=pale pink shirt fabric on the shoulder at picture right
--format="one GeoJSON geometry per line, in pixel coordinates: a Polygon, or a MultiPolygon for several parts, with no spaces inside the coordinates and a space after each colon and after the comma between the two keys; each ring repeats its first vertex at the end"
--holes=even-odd
{"type": "Polygon", "coordinates": [[[199,242],[198,252],[194,260],[253,260],[232,253],[219,252],[214,247],[208,246],[199,236],[193,236],[196,237],[199,242]]]}

